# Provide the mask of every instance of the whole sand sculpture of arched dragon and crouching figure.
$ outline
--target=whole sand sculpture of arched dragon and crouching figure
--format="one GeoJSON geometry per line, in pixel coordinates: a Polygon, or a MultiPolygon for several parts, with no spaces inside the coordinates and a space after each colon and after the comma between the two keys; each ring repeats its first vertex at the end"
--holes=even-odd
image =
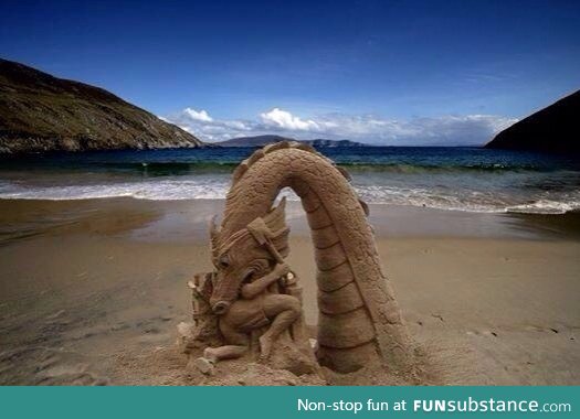
{"type": "Polygon", "coordinates": [[[380,267],[368,206],[348,174],[312,147],[278,142],[255,151],[233,173],[221,227],[212,222],[214,271],[190,282],[198,367],[251,356],[296,374],[319,365],[338,373],[362,366],[398,369],[409,337],[380,267]],[[302,315],[299,279],[289,253],[283,187],[300,197],[315,247],[318,287],[316,344],[302,315]]]}

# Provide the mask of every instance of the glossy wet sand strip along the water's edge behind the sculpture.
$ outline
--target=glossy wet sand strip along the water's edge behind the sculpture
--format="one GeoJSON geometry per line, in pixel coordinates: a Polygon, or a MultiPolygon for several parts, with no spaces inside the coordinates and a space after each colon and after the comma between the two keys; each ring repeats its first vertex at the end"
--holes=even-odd
{"type": "MultiPolygon", "coordinates": [[[[224,204],[225,200],[0,198],[0,241],[11,235],[18,237],[19,233],[35,235],[42,230],[86,232],[87,228],[97,233],[101,228],[110,230],[115,228],[110,223],[114,221],[116,228],[135,230],[133,234],[137,237],[199,243],[208,238],[207,225],[213,215],[220,219],[224,204]]],[[[369,223],[377,237],[580,240],[580,212],[475,213],[391,204],[369,204],[369,223]]],[[[309,235],[299,202],[288,202],[287,218],[293,234],[309,235]]]]}

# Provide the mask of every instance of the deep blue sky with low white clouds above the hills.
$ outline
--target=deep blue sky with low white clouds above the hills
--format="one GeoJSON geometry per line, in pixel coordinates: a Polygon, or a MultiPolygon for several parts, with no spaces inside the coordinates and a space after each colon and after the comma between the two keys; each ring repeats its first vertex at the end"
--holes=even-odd
{"type": "Polygon", "coordinates": [[[0,1],[0,56],[210,141],[478,144],[580,88],[578,1],[0,1]]]}

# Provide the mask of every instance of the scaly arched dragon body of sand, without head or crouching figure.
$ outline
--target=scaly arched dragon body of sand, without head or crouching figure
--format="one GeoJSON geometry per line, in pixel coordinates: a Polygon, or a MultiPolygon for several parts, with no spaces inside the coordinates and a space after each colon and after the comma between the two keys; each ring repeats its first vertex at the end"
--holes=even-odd
{"type": "MultiPolygon", "coordinates": [[[[381,270],[367,206],[348,175],[309,146],[266,146],[239,165],[221,228],[212,237],[214,249],[268,213],[286,186],[302,200],[315,247],[319,363],[340,372],[373,361],[390,366],[405,363],[409,339],[381,270]]],[[[219,271],[218,266],[213,301],[226,293],[229,281],[235,282],[219,271]]]]}

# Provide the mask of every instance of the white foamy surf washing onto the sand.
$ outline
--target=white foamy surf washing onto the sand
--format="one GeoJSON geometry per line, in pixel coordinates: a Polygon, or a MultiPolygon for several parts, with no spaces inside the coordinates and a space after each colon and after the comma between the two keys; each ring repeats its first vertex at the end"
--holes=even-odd
{"type": "MultiPolygon", "coordinates": [[[[361,185],[355,182],[359,196],[370,204],[411,205],[475,213],[565,214],[580,210],[580,191],[538,192],[514,196],[497,191],[473,191],[425,187],[361,185]]],[[[4,200],[89,200],[134,197],[138,200],[223,200],[229,181],[165,179],[138,182],[116,182],[85,185],[29,186],[0,182],[0,198],[4,200]]],[[[289,200],[298,197],[285,193],[289,200]]]]}

